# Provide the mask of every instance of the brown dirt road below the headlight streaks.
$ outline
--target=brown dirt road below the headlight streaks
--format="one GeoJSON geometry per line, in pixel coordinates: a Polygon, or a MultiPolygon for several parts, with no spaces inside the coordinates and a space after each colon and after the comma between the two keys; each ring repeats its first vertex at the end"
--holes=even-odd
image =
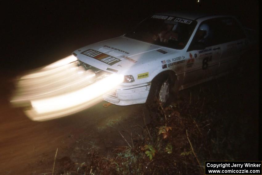
{"type": "Polygon", "coordinates": [[[100,139],[103,144],[112,146],[112,140],[124,141],[119,134],[113,137],[110,135],[114,123],[121,122],[126,130],[131,129],[131,123],[132,126],[136,123],[144,125],[141,115],[138,115],[141,114],[143,105],[103,107],[107,102],[100,102],[75,115],[34,122],[28,119],[21,109],[10,106],[5,97],[9,93],[6,89],[1,90],[4,98],[0,105],[0,174],[51,172],[52,166],[50,169],[48,166],[51,165],[57,148],[57,158],[68,156],[68,149],[72,148],[80,137],[85,137],[87,144],[97,144],[95,142],[100,139]],[[92,133],[97,131],[105,132],[100,132],[95,139],[88,140],[88,135],[94,136],[92,133]],[[107,139],[108,135],[110,139],[107,139]]]}

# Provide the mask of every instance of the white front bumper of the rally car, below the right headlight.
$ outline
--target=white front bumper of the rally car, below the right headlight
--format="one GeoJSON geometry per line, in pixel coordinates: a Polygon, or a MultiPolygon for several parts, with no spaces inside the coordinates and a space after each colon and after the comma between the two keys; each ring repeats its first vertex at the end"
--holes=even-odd
{"type": "Polygon", "coordinates": [[[104,94],[105,101],[115,105],[126,106],[145,103],[151,83],[132,86],[117,86],[116,89],[104,94]]]}

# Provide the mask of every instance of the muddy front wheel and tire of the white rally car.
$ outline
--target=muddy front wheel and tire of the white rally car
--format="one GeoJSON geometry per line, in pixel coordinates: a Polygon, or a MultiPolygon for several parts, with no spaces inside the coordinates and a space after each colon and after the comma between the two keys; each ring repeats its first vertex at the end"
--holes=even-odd
{"type": "Polygon", "coordinates": [[[172,82],[167,74],[158,75],[151,82],[150,91],[146,100],[149,106],[160,104],[166,106],[171,96],[172,82]]]}

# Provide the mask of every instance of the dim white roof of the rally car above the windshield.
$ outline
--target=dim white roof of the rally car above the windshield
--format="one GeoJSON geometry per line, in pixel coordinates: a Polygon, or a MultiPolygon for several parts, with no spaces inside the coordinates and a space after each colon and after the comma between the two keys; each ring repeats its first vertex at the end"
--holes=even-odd
{"type": "Polygon", "coordinates": [[[200,18],[203,18],[203,17],[215,17],[215,16],[218,16],[218,15],[210,15],[210,14],[197,13],[197,12],[176,12],[176,11],[157,13],[156,15],[177,16],[177,17],[181,17],[181,18],[185,18],[185,19],[191,19],[191,20],[196,20],[196,19],[200,19],[200,18]]]}

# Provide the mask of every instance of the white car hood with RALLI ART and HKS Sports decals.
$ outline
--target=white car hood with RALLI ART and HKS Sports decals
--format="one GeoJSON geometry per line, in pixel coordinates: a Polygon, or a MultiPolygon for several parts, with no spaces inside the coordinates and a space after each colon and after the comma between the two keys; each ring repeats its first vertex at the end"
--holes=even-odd
{"type": "Polygon", "coordinates": [[[157,58],[177,52],[171,48],[134,40],[125,36],[91,44],[74,51],[77,58],[98,69],[115,73],[127,73],[142,64],[155,62],[157,58]]]}

